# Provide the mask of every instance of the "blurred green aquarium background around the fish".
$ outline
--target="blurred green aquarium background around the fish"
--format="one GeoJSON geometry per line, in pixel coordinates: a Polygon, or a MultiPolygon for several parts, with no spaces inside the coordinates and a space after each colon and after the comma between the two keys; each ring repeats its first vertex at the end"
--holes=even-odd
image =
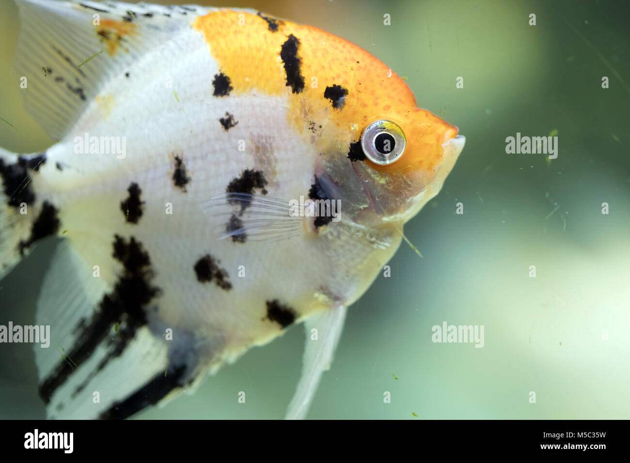
{"type": "MultiPolygon", "coordinates": [[[[16,130],[0,123],[0,146],[40,151],[52,140],[23,110],[12,66],[17,8],[1,4],[0,117],[16,130]]],[[[629,5],[221,2],[347,38],[408,77],[418,105],[467,138],[440,195],[406,226],[423,258],[403,244],[391,278],[377,278],[350,307],[309,418],[630,418],[629,5]],[[552,130],[551,163],[505,153],[508,136],[552,130]],[[432,343],[443,321],[484,325],[485,346],[432,343]]],[[[33,323],[53,246],[0,281],[0,323],[33,323]]],[[[302,331],[137,418],[281,418],[299,377],[302,331]]],[[[0,418],[43,418],[36,385],[31,346],[0,345],[0,418]]]]}

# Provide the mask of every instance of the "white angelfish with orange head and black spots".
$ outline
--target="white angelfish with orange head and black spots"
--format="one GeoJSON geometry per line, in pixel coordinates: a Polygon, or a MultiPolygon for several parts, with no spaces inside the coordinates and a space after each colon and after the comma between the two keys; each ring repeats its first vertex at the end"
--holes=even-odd
{"type": "Polygon", "coordinates": [[[48,418],[129,418],[300,323],[285,418],[306,418],[347,308],[464,136],[313,26],[253,9],[16,3],[23,104],[57,143],[0,150],[0,278],[58,240],[36,312],[50,348],[34,346],[48,418]]]}

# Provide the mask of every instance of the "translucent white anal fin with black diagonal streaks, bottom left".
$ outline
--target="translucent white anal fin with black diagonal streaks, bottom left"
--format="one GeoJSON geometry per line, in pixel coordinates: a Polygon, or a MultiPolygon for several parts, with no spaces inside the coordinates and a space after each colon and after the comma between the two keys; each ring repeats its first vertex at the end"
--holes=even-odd
{"type": "Polygon", "coordinates": [[[117,300],[124,275],[108,289],[90,268],[62,241],[38,300],[37,323],[50,326],[50,347],[34,347],[50,418],[127,418],[184,386],[186,363],[171,361],[181,343],[168,345],[149,310],[117,300]]]}

